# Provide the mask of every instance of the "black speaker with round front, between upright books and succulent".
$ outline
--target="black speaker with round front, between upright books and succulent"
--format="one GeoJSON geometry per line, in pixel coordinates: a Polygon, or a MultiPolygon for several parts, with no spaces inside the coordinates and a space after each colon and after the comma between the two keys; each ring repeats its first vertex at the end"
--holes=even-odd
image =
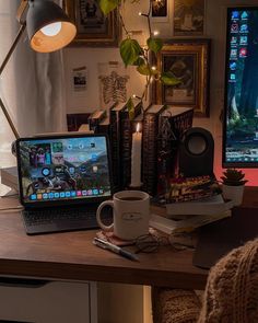
{"type": "Polygon", "coordinates": [[[186,177],[213,175],[214,140],[210,131],[194,127],[179,143],[179,173],[186,177]]]}

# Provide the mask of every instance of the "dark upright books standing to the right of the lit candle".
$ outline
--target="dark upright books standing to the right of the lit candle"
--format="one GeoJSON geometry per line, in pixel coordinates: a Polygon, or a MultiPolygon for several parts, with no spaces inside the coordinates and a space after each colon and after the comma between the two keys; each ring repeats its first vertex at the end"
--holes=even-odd
{"type": "Polygon", "coordinates": [[[184,131],[192,125],[194,109],[151,105],[143,117],[142,182],[151,196],[165,194],[176,174],[177,150],[184,131]]]}

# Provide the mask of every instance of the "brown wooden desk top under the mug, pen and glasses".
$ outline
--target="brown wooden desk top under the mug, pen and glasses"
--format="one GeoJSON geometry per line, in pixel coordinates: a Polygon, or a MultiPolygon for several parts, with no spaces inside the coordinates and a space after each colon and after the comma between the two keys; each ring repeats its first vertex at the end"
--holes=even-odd
{"type": "MultiPolygon", "coordinates": [[[[257,189],[248,191],[244,206],[253,200],[251,207],[258,207],[257,197],[257,189]]],[[[0,208],[16,204],[3,198],[0,208]]],[[[204,288],[208,270],[192,266],[192,251],[162,246],[157,253],[140,254],[137,263],[96,247],[94,237],[92,230],[30,237],[20,211],[1,211],[0,276],[204,288]]]]}

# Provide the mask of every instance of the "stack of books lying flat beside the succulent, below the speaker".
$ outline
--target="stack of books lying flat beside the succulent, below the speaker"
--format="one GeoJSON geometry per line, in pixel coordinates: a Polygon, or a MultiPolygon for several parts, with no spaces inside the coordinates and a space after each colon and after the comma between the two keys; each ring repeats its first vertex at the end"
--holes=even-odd
{"type": "Polygon", "coordinates": [[[168,234],[189,232],[230,217],[232,207],[214,177],[175,178],[166,198],[152,206],[151,226],[168,234]]]}

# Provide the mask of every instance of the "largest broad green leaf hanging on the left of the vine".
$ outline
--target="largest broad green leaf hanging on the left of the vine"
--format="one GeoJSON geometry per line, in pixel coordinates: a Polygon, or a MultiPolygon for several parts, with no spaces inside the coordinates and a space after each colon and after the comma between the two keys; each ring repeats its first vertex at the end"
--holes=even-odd
{"type": "Polygon", "coordinates": [[[142,54],[142,48],[136,39],[127,38],[120,44],[120,56],[126,65],[133,65],[142,54]]]}

